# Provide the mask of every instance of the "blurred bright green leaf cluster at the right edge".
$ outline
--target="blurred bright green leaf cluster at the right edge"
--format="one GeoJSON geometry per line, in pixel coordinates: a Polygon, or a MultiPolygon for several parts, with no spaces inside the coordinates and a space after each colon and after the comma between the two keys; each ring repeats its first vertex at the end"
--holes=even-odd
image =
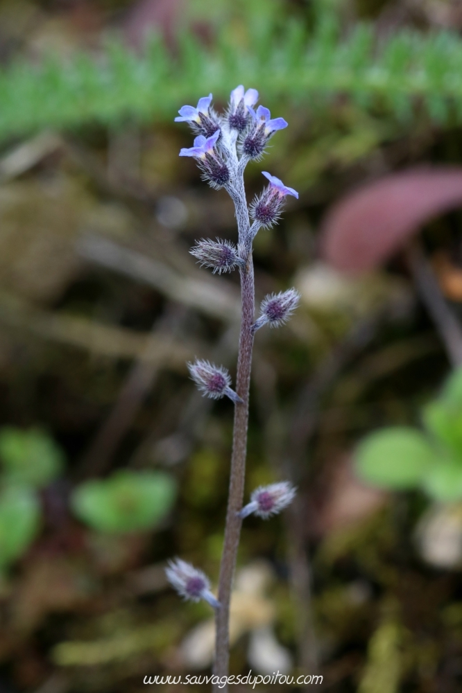
{"type": "Polygon", "coordinates": [[[443,502],[462,498],[462,368],[448,378],[440,396],[425,407],[427,433],[391,427],[359,444],[359,476],[385,489],[420,487],[443,502]]]}

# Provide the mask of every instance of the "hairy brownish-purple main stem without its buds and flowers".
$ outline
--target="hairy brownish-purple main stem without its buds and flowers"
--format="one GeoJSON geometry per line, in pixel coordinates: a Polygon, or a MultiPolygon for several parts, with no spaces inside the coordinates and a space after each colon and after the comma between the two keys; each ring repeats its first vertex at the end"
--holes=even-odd
{"type": "MultiPolygon", "coordinates": [[[[249,242],[249,220],[243,179],[239,176],[237,194],[232,195],[236,207],[239,227],[239,245],[246,260],[246,267],[241,270],[241,334],[239,337],[239,355],[237,358],[236,392],[242,403],[235,405],[234,430],[232,437],[232,456],[230,469],[230,491],[228,511],[226,513],[225,540],[221,556],[218,598],[221,607],[216,610],[216,641],[214,674],[228,675],[229,664],[229,622],[232,581],[236,567],[237,549],[241,534],[242,520],[238,513],[242,507],[244,482],[246,478],[246,453],[248,429],[248,398],[250,387],[250,369],[252,367],[253,322],[255,317],[255,286],[253,278],[253,259],[251,240],[249,242]]],[[[227,688],[218,689],[221,692],[227,688]]]]}

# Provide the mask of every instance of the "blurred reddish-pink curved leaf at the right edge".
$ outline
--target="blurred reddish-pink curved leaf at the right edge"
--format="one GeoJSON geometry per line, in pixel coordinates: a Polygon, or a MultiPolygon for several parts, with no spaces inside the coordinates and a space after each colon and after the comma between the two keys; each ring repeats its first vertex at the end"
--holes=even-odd
{"type": "Polygon", "coordinates": [[[328,213],[324,258],[344,272],[370,270],[429,219],[462,204],[462,168],[414,168],[347,195],[328,213]]]}

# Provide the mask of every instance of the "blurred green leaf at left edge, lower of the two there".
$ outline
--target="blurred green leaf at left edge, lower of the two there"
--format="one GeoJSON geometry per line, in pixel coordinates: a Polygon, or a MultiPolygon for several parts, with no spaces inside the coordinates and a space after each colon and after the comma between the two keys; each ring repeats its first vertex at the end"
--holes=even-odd
{"type": "Polygon", "coordinates": [[[19,558],[37,534],[40,505],[24,486],[7,486],[0,492],[0,568],[19,558]]]}

